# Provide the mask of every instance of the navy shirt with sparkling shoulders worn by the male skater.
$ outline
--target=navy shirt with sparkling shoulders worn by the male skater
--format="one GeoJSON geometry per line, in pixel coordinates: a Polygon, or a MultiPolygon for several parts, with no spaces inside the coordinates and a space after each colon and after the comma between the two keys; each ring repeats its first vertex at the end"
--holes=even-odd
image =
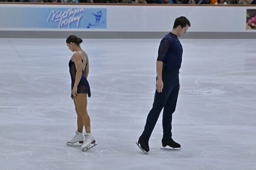
{"type": "Polygon", "coordinates": [[[182,61],[182,45],[178,36],[167,34],[159,45],[157,61],[163,62],[163,67],[179,69],[182,61]]]}

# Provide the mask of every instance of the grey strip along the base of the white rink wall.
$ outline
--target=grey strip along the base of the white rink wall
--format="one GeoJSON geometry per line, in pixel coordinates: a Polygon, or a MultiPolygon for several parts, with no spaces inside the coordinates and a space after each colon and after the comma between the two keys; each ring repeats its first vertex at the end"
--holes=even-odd
{"type": "MultiPolygon", "coordinates": [[[[0,31],[0,38],[67,38],[77,35],[85,38],[106,39],[160,39],[168,32],[70,32],[70,31],[0,31]]],[[[254,39],[256,33],[188,32],[185,39],[254,39]]]]}

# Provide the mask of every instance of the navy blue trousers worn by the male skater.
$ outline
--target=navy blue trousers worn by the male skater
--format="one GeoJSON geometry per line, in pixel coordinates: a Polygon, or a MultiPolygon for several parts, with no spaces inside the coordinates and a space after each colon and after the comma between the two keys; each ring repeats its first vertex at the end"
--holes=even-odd
{"type": "Polygon", "coordinates": [[[149,140],[162,109],[164,109],[162,118],[163,138],[170,139],[172,137],[172,113],[176,109],[179,94],[179,69],[163,67],[162,81],[162,93],[158,93],[156,90],[153,107],[148,114],[142,133],[142,137],[146,140],[149,140]]]}

